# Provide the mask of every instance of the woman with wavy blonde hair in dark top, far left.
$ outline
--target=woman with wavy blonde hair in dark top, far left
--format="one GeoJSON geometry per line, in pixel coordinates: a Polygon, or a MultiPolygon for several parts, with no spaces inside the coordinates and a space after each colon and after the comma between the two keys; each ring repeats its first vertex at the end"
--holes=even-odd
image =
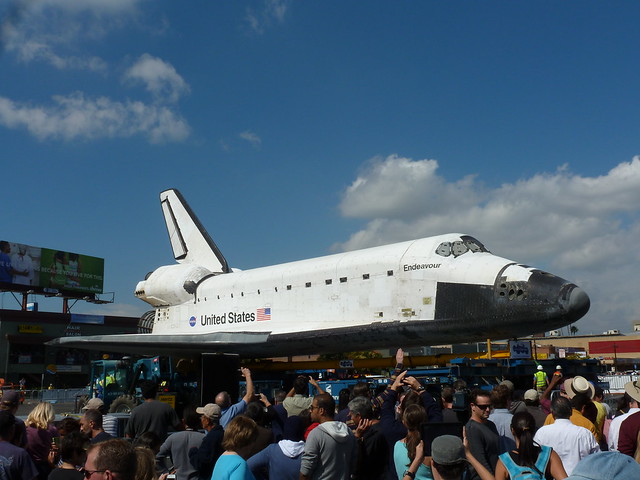
{"type": "Polygon", "coordinates": [[[27,452],[36,464],[40,480],[46,480],[53,465],[49,460],[53,438],[59,438],[53,425],[56,414],[49,402],[37,404],[24,422],[27,427],[27,452]]]}

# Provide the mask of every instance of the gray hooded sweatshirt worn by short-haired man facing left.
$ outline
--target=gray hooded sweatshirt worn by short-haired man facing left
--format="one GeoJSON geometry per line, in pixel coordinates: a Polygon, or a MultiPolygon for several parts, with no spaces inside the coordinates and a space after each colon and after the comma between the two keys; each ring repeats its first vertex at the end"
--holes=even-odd
{"type": "Polygon", "coordinates": [[[313,480],[348,480],[357,460],[356,437],[342,422],[324,422],[307,437],[300,473],[313,480]]]}

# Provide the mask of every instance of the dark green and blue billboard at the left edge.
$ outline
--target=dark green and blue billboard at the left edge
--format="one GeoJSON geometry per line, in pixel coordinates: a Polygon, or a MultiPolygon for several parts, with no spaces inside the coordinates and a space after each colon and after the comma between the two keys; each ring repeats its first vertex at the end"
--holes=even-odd
{"type": "Polygon", "coordinates": [[[102,293],[104,259],[0,241],[2,290],[82,297],[102,293]]]}

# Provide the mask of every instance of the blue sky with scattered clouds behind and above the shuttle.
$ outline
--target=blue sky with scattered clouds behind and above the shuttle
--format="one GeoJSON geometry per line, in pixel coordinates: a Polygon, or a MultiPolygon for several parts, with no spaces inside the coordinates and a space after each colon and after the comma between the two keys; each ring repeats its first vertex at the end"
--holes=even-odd
{"type": "Polygon", "coordinates": [[[74,311],[138,315],[135,284],[172,261],[158,194],[175,187],[234,267],[458,231],[584,287],[580,331],[629,331],[639,14],[5,1],[1,236],[105,258],[115,303],[74,311]]]}

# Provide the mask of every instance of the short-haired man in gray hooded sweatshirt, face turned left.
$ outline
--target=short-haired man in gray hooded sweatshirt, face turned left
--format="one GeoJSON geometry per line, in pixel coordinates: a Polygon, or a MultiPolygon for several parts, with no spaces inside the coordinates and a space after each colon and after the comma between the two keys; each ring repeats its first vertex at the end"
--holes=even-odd
{"type": "Polygon", "coordinates": [[[311,421],[317,422],[304,447],[300,480],[348,480],[357,460],[356,438],[342,422],[333,420],[336,403],[328,393],[313,397],[311,421]]]}

